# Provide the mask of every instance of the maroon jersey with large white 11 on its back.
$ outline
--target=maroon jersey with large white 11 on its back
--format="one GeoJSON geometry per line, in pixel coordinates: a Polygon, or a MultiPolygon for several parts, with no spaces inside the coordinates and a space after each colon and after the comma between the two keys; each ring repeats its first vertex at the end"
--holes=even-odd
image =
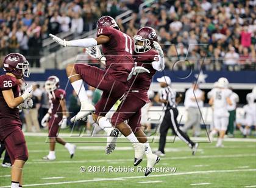
{"type": "Polygon", "coordinates": [[[110,41],[102,44],[106,61],[105,69],[119,81],[126,82],[133,67],[133,39],[113,27],[101,27],[97,36],[106,35],[110,41]]]}

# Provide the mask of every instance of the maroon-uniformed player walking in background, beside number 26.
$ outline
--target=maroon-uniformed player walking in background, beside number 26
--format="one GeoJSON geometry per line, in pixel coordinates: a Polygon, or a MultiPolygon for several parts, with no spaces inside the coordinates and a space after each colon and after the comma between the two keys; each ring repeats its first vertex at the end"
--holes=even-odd
{"type": "Polygon", "coordinates": [[[44,160],[53,161],[55,156],[55,143],[62,144],[68,150],[70,157],[73,158],[76,146],[74,144],[66,143],[62,138],[57,136],[59,127],[66,128],[66,92],[63,89],[59,89],[59,78],[57,76],[50,76],[44,84],[46,92],[48,92],[50,109],[41,121],[42,126],[46,126],[48,123],[50,150],[47,156],[44,156],[44,160]]]}

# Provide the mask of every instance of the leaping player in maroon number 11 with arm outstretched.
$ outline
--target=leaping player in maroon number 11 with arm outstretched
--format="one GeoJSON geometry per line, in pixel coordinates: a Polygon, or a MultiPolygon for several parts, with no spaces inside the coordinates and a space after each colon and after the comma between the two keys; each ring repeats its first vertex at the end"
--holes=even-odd
{"type": "Polygon", "coordinates": [[[107,132],[113,134],[117,129],[102,126],[106,120],[105,114],[112,108],[115,102],[127,90],[127,76],[133,67],[133,41],[130,36],[119,30],[115,19],[110,16],[102,16],[97,21],[97,38],[85,38],[73,41],[65,41],[57,36],[50,36],[55,42],[63,46],[93,47],[101,44],[105,55],[105,70],[98,69],[88,64],[69,64],[66,73],[74,90],[76,91],[81,109],[71,121],[80,120],[93,113],[93,120],[107,132]],[[90,86],[103,90],[101,99],[95,107],[88,101],[83,81],[90,86]]]}

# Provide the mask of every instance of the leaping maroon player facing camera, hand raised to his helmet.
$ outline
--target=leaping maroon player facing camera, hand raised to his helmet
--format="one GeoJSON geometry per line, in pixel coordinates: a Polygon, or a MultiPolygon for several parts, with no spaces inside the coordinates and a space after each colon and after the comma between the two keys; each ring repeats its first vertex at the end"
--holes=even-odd
{"type": "MultiPolygon", "coordinates": [[[[109,121],[104,121],[104,124],[105,127],[112,125],[116,127],[132,143],[135,149],[134,166],[140,164],[144,153],[146,154],[148,169],[145,176],[147,176],[160,158],[152,153],[148,139],[140,128],[141,108],[146,102],[149,102],[148,90],[152,77],[157,70],[163,71],[165,60],[163,50],[157,43],[157,33],[151,27],[141,28],[133,39],[135,43],[134,61],[137,62],[138,66],[149,70],[149,73],[145,72],[133,76],[132,84],[130,84],[123,101],[112,116],[112,124],[109,121]],[[126,120],[128,120],[128,125],[124,123],[126,120]]],[[[115,141],[115,136],[108,136],[107,143],[111,144],[107,146],[107,153],[111,153],[115,149],[115,141]]]]}

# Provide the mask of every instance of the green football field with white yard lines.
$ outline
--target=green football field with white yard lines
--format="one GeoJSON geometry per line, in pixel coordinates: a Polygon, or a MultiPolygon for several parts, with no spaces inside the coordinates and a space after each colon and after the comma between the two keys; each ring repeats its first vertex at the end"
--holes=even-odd
{"type": "MultiPolygon", "coordinates": [[[[26,136],[29,160],[23,170],[24,187],[256,187],[255,139],[226,141],[224,148],[201,143],[196,156],[191,155],[185,143],[169,140],[166,156],[156,166],[165,172],[154,172],[148,177],[133,167],[129,143],[118,143],[115,152],[105,155],[105,138],[65,139],[77,143],[74,158],[70,159],[66,149],[58,144],[57,159],[43,161],[41,157],[48,154],[46,137],[26,136]],[[80,172],[81,167],[87,171],[80,172]],[[115,167],[129,167],[135,172],[116,172],[115,167]],[[175,168],[176,172],[166,170],[175,168]]],[[[157,146],[158,143],[151,144],[154,150],[157,146]]],[[[146,158],[141,166],[146,167],[146,158]]],[[[10,169],[0,167],[0,187],[9,185],[10,169]]]]}

